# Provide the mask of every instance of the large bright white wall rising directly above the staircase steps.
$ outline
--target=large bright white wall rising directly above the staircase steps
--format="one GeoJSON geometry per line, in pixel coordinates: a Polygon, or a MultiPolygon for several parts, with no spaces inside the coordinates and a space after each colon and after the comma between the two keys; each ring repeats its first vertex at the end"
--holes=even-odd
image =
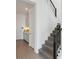
{"type": "Polygon", "coordinates": [[[57,18],[54,17],[49,0],[31,0],[36,2],[36,37],[35,51],[42,47],[49,34],[54,30],[58,22],[61,23],[61,1],[53,0],[57,8],[57,18]]]}

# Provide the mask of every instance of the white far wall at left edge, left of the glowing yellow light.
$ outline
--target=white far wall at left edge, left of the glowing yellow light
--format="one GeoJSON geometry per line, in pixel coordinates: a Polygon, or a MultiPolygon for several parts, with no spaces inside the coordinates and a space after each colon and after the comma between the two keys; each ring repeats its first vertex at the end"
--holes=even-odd
{"type": "Polygon", "coordinates": [[[25,26],[26,15],[25,14],[16,14],[16,39],[23,39],[23,29],[25,26]]]}

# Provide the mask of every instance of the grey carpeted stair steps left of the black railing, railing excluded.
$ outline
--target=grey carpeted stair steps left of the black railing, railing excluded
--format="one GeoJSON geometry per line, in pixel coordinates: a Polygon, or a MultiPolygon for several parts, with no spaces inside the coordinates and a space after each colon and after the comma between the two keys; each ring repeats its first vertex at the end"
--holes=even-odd
{"type": "Polygon", "coordinates": [[[45,59],[54,59],[53,58],[53,36],[50,34],[48,40],[45,41],[45,44],[42,45],[42,48],[39,50],[39,54],[42,55],[45,59]]]}

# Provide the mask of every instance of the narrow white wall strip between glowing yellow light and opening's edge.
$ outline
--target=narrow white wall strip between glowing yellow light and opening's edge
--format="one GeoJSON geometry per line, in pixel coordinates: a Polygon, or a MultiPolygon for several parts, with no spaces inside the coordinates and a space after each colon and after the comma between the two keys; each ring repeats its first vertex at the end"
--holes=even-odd
{"type": "Polygon", "coordinates": [[[29,9],[29,46],[35,48],[35,6],[29,9]]]}

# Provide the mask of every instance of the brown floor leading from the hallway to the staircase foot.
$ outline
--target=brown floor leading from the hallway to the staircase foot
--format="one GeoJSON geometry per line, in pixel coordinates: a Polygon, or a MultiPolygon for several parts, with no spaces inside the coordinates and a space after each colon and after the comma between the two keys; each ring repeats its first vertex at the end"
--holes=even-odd
{"type": "Polygon", "coordinates": [[[23,40],[16,41],[16,59],[44,59],[34,53],[33,49],[23,40]]]}

